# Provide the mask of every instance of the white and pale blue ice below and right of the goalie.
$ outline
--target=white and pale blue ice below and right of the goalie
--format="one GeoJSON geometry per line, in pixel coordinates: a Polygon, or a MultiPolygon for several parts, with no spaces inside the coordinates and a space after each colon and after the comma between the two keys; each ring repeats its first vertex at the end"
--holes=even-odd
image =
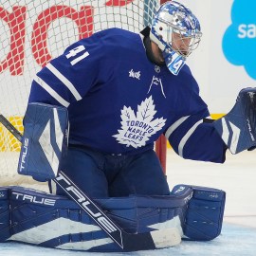
{"type": "Polygon", "coordinates": [[[225,164],[184,160],[168,150],[167,177],[170,188],[192,184],[227,192],[222,234],[210,242],[183,241],[177,247],[133,253],[90,253],[32,247],[17,243],[0,244],[0,256],[255,256],[256,255],[256,151],[227,155],[225,164]]]}

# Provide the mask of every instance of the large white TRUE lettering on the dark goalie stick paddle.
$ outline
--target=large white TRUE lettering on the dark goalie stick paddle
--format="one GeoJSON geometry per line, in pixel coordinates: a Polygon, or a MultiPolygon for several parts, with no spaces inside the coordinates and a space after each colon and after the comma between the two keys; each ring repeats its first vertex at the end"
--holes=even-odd
{"type": "MultiPolygon", "coordinates": [[[[63,174],[59,174],[56,177],[57,181],[64,181],[65,184],[61,184],[62,188],[64,189],[64,191],[67,191],[68,194],[72,197],[73,195],[76,196],[75,201],[78,201],[80,203],[80,205],[82,206],[82,208],[89,214],[91,215],[93,218],[96,218],[95,220],[101,225],[101,227],[103,227],[104,229],[106,229],[108,232],[114,232],[117,229],[101,214],[101,211],[97,209],[97,206],[93,205],[92,202],[90,202],[88,200],[88,198],[86,198],[84,195],[82,195],[82,193],[73,185],[70,184],[70,182],[64,177],[63,174]],[[69,192],[72,192],[72,194],[70,194],[69,192]],[[94,212],[95,210],[95,212],[94,212]]],[[[59,183],[58,183],[59,184],[59,183]]],[[[60,185],[60,184],[59,184],[60,185]]]]}

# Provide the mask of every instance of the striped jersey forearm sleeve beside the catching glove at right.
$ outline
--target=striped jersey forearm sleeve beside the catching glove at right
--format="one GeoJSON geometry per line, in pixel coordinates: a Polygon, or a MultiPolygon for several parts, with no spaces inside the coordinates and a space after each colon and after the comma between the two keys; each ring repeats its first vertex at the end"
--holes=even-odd
{"type": "Polygon", "coordinates": [[[186,159],[223,163],[227,147],[205,113],[177,119],[165,133],[176,154],[186,159]]]}

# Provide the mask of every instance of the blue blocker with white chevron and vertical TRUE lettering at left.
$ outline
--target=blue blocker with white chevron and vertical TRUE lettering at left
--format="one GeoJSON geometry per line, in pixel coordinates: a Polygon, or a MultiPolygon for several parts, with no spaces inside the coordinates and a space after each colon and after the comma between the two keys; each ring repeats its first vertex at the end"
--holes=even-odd
{"type": "Polygon", "coordinates": [[[68,114],[64,107],[29,103],[18,173],[46,181],[56,177],[67,149],[68,114]]]}

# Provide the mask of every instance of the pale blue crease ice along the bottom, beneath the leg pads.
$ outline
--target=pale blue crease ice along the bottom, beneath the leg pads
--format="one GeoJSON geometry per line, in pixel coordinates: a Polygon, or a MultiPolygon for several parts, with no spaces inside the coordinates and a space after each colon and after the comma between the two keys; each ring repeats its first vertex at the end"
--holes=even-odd
{"type": "Polygon", "coordinates": [[[222,235],[210,242],[182,241],[177,247],[137,251],[130,253],[93,253],[33,247],[18,243],[0,244],[1,256],[81,256],[81,255],[129,255],[129,256],[255,256],[256,229],[225,224],[222,235]]]}

